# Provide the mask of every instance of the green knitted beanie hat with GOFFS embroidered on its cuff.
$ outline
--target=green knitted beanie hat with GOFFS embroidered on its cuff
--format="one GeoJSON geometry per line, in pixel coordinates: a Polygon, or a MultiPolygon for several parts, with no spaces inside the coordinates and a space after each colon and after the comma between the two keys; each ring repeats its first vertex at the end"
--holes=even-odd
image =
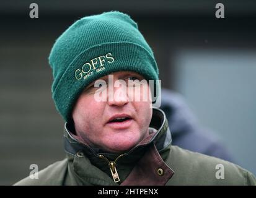
{"type": "Polygon", "coordinates": [[[94,80],[118,71],[158,79],[152,49],[129,15],[104,12],[77,20],[55,42],[49,56],[53,70],[52,97],[64,120],[82,90],[94,80]]]}

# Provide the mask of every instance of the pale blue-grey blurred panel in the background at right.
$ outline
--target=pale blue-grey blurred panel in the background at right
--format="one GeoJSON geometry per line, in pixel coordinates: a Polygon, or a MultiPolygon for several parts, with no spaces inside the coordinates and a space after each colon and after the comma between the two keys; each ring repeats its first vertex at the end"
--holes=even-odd
{"type": "Polygon", "coordinates": [[[237,163],[256,173],[256,51],[180,49],[175,88],[237,163]]]}

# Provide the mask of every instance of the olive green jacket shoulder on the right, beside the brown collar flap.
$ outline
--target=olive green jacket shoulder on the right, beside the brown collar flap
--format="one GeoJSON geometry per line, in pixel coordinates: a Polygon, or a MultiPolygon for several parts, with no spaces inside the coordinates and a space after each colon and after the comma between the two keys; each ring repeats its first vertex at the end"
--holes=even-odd
{"type": "Polygon", "coordinates": [[[234,163],[177,146],[165,161],[174,171],[167,185],[256,185],[255,176],[234,163]]]}

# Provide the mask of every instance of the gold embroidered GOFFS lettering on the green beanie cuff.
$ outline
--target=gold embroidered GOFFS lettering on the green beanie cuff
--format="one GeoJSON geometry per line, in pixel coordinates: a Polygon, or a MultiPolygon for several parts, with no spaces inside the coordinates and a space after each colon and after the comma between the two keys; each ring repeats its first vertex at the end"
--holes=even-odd
{"type": "Polygon", "coordinates": [[[105,62],[112,63],[115,61],[111,53],[107,53],[104,56],[99,56],[97,58],[91,59],[89,62],[86,62],[81,69],[77,69],[74,72],[74,75],[77,80],[82,78],[87,79],[90,75],[93,75],[94,72],[100,72],[105,69],[105,62]]]}

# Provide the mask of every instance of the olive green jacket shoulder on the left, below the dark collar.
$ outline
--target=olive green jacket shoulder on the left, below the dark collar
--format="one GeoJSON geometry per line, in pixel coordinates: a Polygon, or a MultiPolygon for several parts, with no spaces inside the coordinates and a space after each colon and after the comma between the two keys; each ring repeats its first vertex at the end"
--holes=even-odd
{"type": "Polygon", "coordinates": [[[61,186],[68,167],[68,160],[56,161],[38,172],[38,179],[29,176],[15,183],[14,186],[61,186]]]}

